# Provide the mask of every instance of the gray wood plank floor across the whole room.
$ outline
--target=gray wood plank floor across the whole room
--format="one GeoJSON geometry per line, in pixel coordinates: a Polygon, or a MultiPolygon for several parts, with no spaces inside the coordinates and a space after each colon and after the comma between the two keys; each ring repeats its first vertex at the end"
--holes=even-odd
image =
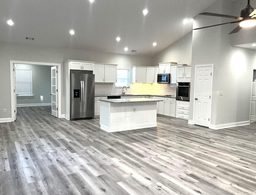
{"type": "Polygon", "coordinates": [[[256,195],[256,123],[211,130],[158,117],[107,133],[19,107],[0,123],[1,195],[256,195]]]}

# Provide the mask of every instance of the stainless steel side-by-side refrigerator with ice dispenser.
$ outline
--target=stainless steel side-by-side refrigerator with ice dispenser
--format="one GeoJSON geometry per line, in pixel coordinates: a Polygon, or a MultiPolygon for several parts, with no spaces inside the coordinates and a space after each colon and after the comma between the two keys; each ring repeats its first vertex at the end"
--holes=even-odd
{"type": "Polygon", "coordinates": [[[95,75],[88,70],[70,70],[70,120],[94,118],[95,75]]]}

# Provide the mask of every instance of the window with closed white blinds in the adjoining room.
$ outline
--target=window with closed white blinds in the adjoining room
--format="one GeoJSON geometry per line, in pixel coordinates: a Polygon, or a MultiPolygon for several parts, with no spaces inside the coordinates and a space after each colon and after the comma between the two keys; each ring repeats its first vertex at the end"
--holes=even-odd
{"type": "Polygon", "coordinates": [[[31,69],[16,68],[16,93],[18,96],[33,96],[31,69]]]}

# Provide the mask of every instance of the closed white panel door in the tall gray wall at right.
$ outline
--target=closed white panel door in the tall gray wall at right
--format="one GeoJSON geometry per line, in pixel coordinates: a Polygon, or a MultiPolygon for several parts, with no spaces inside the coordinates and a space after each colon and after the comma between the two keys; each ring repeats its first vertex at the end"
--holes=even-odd
{"type": "Polygon", "coordinates": [[[212,66],[196,67],[195,124],[210,125],[210,96],[212,90],[212,66]]]}

